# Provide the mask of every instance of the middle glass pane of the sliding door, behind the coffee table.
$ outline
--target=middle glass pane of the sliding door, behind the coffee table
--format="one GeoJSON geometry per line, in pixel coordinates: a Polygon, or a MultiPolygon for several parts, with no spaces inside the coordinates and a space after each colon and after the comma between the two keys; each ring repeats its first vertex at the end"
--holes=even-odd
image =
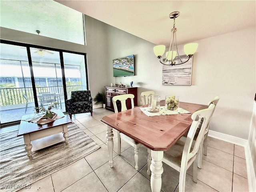
{"type": "Polygon", "coordinates": [[[50,104],[54,104],[55,109],[65,112],[60,53],[36,48],[30,48],[30,52],[38,106],[47,109],[50,104]]]}

